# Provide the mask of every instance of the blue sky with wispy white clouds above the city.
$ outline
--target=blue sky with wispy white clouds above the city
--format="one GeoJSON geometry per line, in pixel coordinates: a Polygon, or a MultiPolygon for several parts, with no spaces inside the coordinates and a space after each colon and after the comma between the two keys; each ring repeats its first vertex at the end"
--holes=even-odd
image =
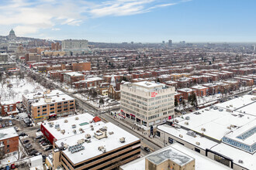
{"type": "Polygon", "coordinates": [[[255,0],[0,0],[0,35],[92,42],[256,42],[255,0]]]}

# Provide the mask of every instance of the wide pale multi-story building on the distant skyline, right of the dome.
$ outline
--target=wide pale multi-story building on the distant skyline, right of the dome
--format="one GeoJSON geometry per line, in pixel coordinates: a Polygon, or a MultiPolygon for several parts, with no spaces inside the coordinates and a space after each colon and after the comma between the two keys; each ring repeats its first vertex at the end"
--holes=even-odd
{"type": "Polygon", "coordinates": [[[83,54],[88,52],[88,40],[66,39],[61,42],[61,49],[72,54],[83,54]]]}

